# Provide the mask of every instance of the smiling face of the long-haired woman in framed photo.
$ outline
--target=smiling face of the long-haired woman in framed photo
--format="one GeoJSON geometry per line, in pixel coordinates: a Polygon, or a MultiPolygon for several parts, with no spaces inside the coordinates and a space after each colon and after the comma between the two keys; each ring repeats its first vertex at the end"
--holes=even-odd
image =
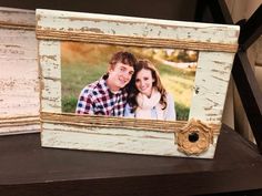
{"type": "Polygon", "coordinates": [[[147,69],[142,69],[137,73],[135,86],[137,89],[147,96],[151,96],[154,79],[152,72],[147,69]]]}

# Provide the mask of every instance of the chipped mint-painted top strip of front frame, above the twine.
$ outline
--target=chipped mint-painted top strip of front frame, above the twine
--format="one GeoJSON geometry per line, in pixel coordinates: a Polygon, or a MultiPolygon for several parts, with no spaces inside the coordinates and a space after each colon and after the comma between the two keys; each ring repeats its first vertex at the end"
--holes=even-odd
{"type": "Polygon", "coordinates": [[[202,42],[238,43],[236,25],[222,25],[133,17],[37,10],[38,29],[90,31],[127,37],[162,38],[202,42]],[[93,31],[94,30],[94,31],[93,31]]]}

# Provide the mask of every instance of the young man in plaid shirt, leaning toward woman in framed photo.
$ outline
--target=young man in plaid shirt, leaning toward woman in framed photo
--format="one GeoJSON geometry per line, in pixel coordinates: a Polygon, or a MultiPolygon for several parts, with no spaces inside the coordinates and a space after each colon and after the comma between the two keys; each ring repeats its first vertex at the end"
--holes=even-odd
{"type": "Polygon", "coordinates": [[[128,96],[125,86],[134,73],[135,64],[137,59],[129,52],[113,54],[108,73],[81,91],[75,113],[123,116],[128,96]]]}

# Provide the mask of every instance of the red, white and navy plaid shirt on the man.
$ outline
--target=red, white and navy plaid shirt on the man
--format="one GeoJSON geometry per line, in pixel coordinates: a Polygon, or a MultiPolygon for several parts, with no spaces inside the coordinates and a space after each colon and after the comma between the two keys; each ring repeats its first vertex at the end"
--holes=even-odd
{"type": "Polygon", "coordinates": [[[123,116],[128,93],[124,90],[112,93],[105,80],[103,75],[81,91],[75,113],[123,116]]]}

